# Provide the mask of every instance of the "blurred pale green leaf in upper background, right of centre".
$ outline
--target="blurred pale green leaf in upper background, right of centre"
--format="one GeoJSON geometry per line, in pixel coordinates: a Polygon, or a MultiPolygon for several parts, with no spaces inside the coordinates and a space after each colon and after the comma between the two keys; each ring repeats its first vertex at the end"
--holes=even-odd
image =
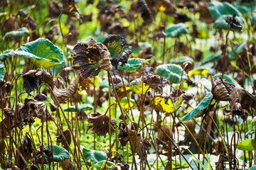
{"type": "Polygon", "coordinates": [[[185,23],[177,23],[168,26],[165,30],[167,37],[177,37],[181,34],[188,34],[188,26],[185,23]]]}

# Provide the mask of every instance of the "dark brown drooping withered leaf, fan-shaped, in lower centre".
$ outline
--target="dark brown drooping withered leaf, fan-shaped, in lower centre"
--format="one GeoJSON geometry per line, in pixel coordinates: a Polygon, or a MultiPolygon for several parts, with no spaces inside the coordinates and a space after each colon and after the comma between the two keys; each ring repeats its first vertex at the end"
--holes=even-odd
{"type": "MultiPolygon", "coordinates": [[[[91,129],[92,132],[99,136],[106,137],[107,132],[109,132],[109,122],[110,118],[107,115],[101,115],[100,113],[90,114],[91,117],[88,118],[88,123],[93,125],[88,126],[88,130],[91,129]]],[[[111,135],[114,135],[114,129],[117,128],[117,120],[111,118],[111,135]]]]}

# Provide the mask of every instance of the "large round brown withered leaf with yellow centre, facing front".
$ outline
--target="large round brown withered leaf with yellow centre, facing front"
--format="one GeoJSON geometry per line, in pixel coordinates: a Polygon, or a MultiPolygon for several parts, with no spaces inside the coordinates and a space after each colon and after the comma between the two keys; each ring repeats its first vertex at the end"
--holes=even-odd
{"type": "Polygon", "coordinates": [[[73,69],[80,69],[82,77],[95,77],[101,69],[110,71],[112,69],[110,62],[110,52],[107,47],[92,38],[89,42],[82,42],[75,45],[75,55],[73,57],[73,69]],[[75,66],[80,64],[80,66],[75,66]]]}

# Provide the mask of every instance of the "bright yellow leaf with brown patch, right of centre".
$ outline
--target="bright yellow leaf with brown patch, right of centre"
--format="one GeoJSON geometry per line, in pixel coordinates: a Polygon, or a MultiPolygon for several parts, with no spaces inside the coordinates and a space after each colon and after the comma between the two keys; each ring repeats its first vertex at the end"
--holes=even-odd
{"type": "Polygon", "coordinates": [[[174,103],[171,101],[170,98],[168,98],[166,101],[165,98],[157,96],[154,98],[152,105],[154,106],[154,109],[156,109],[156,111],[162,111],[166,113],[174,113],[175,111],[174,103]]]}

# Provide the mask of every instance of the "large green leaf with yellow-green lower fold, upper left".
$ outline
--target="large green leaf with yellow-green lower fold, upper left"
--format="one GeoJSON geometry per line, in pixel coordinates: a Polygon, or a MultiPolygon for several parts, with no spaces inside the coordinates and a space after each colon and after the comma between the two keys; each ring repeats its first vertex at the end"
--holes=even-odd
{"type": "Polygon", "coordinates": [[[21,45],[14,54],[30,58],[36,67],[49,68],[64,62],[63,51],[45,38],[21,45]]]}

